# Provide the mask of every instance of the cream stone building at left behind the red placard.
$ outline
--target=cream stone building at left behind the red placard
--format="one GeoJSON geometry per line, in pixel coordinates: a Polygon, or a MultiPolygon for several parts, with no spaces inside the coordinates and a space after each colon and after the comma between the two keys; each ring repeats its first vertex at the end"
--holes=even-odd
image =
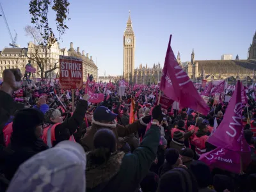
{"type": "MultiPolygon", "coordinates": [[[[44,70],[51,69],[54,67],[55,63],[57,63],[57,67],[59,67],[60,55],[65,55],[83,58],[83,81],[86,81],[88,74],[92,74],[95,81],[97,81],[98,68],[93,62],[92,56],[89,58],[88,53],[85,56],[84,51],[81,54],[79,47],[77,47],[77,51],[75,51],[73,43],[70,43],[70,49],[61,49],[60,44],[56,42],[47,50],[47,55],[45,55],[45,49],[45,46],[42,45],[38,47],[38,45],[33,44],[33,42],[28,43],[28,48],[4,48],[3,51],[0,51],[0,78],[3,77],[3,70],[6,68],[20,68],[22,74],[24,74],[26,64],[29,60],[33,67],[36,68],[36,71],[40,72],[40,68],[35,62],[35,56],[46,60],[44,70]]],[[[52,71],[48,76],[55,76],[59,70],[59,68],[56,68],[56,70],[52,71]]],[[[32,78],[40,78],[40,76],[38,73],[35,73],[32,74],[32,78]]]]}

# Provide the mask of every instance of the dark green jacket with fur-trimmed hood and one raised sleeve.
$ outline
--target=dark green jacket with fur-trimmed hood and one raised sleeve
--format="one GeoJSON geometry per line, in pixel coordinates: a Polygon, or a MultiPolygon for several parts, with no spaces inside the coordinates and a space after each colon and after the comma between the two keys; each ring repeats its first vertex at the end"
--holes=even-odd
{"type": "Polygon", "coordinates": [[[132,154],[113,153],[106,163],[100,165],[90,160],[89,152],[86,164],[86,191],[135,191],[147,175],[152,161],[156,159],[159,138],[159,127],[152,125],[140,147],[132,154]]]}

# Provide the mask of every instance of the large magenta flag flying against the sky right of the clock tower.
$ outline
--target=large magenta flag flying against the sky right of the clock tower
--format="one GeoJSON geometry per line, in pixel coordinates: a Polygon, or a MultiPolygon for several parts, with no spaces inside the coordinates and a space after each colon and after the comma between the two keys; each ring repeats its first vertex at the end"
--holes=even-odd
{"type": "Polygon", "coordinates": [[[179,102],[180,108],[191,108],[204,115],[209,112],[209,107],[197,92],[188,74],[180,67],[171,47],[172,35],[164,61],[163,76],[161,78],[160,90],[164,95],[179,102]]]}

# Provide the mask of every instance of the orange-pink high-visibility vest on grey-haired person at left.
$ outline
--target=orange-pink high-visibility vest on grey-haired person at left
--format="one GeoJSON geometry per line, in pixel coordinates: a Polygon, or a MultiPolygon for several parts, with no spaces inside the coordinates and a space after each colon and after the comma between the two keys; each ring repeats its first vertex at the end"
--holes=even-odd
{"type": "MultiPolygon", "coordinates": [[[[56,126],[59,125],[59,124],[60,124],[60,123],[58,123],[58,124],[53,124],[53,125],[50,125],[50,126],[44,128],[42,139],[43,139],[44,143],[45,143],[46,145],[48,145],[49,148],[52,147],[52,145],[53,145],[52,142],[53,142],[53,141],[56,141],[56,138],[55,138],[55,128],[56,128],[56,126]]],[[[70,136],[69,140],[76,142],[76,140],[75,140],[75,138],[74,138],[73,135],[70,136]]]]}

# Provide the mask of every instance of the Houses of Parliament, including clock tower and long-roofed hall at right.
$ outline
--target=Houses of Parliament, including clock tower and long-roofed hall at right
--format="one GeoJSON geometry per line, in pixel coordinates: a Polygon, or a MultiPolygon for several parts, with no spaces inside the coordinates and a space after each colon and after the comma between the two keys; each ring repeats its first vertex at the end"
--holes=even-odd
{"type": "MultiPolygon", "coordinates": [[[[160,63],[154,64],[152,68],[149,68],[147,64],[145,66],[140,64],[139,68],[134,68],[135,35],[130,14],[124,31],[123,47],[123,77],[126,81],[135,84],[157,84],[157,82],[161,81],[162,68],[160,63]]],[[[179,52],[177,61],[193,82],[199,82],[202,79],[207,81],[225,79],[228,83],[234,83],[236,79],[239,79],[250,84],[253,82],[255,77],[253,72],[256,70],[256,32],[248,49],[247,60],[239,60],[238,55],[236,60],[195,60],[195,52],[193,50],[191,61],[182,63],[179,52]]]]}

